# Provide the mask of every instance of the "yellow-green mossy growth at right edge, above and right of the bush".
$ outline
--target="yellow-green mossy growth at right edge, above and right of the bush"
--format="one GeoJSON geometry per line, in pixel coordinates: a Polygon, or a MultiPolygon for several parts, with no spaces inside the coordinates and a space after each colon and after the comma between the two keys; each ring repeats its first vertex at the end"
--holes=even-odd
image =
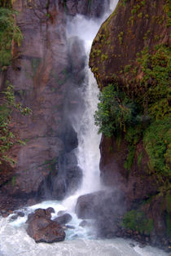
{"type": "Polygon", "coordinates": [[[143,105],[144,113],[148,112],[157,120],[170,114],[170,56],[170,47],[158,45],[153,54],[150,54],[148,48],[144,48],[138,58],[144,75],[139,82],[139,95],[135,100],[143,105]]]}

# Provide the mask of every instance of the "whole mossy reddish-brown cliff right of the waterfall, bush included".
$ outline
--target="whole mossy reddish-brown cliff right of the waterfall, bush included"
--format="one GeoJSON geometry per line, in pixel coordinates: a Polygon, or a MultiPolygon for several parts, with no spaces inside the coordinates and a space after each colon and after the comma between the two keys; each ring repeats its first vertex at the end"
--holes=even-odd
{"type": "Polygon", "coordinates": [[[125,227],[138,231],[134,221],[143,213],[149,221],[142,233],[168,245],[169,29],[169,1],[120,0],[90,51],[90,68],[102,91],[95,121],[103,132],[103,183],[126,193],[125,227]]]}

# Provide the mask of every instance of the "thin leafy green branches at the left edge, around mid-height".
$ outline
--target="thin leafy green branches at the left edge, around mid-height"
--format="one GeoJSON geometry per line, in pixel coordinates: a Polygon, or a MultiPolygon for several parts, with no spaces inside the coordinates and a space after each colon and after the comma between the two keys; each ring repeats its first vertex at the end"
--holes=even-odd
{"type": "Polygon", "coordinates": [[[6,161],[15,165],[15,160],[8,156],[8,150],[16,143],[24,144],[17,135],[11,131],[11,115],[18,112],[24,116],[31,113],[30,108],[24,108],[20,103],[15,102],[13,86],[8,85],[7,90],[2,92],[0,98],[0,164],[6,161]]]}

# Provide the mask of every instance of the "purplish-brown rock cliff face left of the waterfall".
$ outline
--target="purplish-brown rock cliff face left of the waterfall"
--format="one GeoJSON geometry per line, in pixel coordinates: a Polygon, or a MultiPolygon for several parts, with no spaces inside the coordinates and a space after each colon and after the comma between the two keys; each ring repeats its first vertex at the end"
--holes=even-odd
{"type": "Polygon", "coordinates": [[[77,188],[81,170],[72,153],[77,133],[69,118],[81,108],[77,88],[84,79],[85,52],[81,41],[66,37],[67,19],[77,13],[98,17],[103,6],[104,1],[97,0],[13,3],[24,40],[22,46],[12,46],[11,66],[1,72],[0,87],[4,90],[10,81],[16,101],[32,114],[14,113],[11,120],[11,130],[26,145],[11,148],[15,167],[1,166],[1,209],[17,207],[14,197],[27,201],[47,194],[61,199],[77,188]],[[7,196],[13,198],[9,206],[7,196]]]}

